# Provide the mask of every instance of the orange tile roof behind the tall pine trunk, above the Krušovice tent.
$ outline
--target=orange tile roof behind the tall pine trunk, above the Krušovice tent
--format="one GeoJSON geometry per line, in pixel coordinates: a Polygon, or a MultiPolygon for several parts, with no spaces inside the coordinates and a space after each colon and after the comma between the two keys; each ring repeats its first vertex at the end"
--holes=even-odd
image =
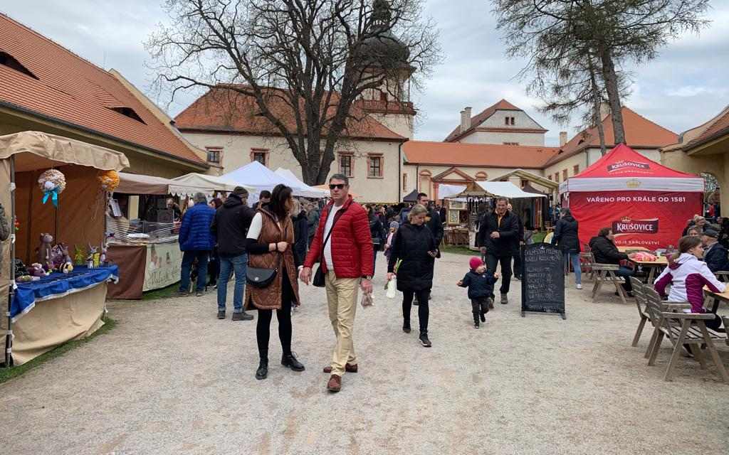
{"type": "MultiPolygon", "coordinates": [[[[678,140],[678,135],[659,124],[651,122],[644,116],[637,114],[630,108],[623,106],[623,128],[625,129],[625,141],[631,148],[660,149],[678,140]]],[[[615,147],[615,134],[612,129],[612,114],[604,117],[602,125],[605,132],[605,144],[607,149],[615,147]]],[[[581,151],[590,148],[600,147],[600,136],[597,127],[590,127],[587,130],[578,132],[559,151],[547,166],[561,162],[563,159],[573,157],[581,151]]]]}

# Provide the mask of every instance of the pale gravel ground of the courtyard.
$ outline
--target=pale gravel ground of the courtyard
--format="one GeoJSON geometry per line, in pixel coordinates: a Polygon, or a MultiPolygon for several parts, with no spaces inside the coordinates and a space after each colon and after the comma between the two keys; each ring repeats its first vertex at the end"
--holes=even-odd
{"type": "MultiPolygon", "coordinates": [[[[382,259],[382,258],[381,258],[382,259]]],[[[202,298],[115,301],[111,333],[0,384],[4,454],[701,454],[729,452],[729,385],[712,366],[682,358],[663,381],[630,346],[634,304],[606,291],[567,293],[567,319],[496,304],[472,328],[466,291],[453,284],[468,256],[437,262],[432,349],[400,330],[385,298],[384,263],[373,308],[358,309],[360,373],[330,395],[321,367],[334,342],[324,291],[303,287],[294,373],[270,347],[256,381],[254,323],[215,319],[202,298]]],[[[572,283],[572,280],[569,281],[572,283]]],[[[586,288],[589,286],[586,286],[586,288]]],[[[232,293],[229,293],[232,296],[232,293]]],[[[726,312],[726,308],[722,307],[726,312]]],[[[413,312],[413,329],[417,316],[413,312]]],[[[729,365],[729,347],[719,347],[729,365]]]]}

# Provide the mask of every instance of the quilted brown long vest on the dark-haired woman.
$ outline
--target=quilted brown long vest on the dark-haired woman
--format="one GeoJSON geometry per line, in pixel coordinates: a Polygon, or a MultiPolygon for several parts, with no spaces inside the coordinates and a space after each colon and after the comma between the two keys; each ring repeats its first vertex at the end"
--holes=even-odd
{"type": "Polygon", "coordinates": [[[282,295],[282,283],[284,273],[288,274],[289,282],[294,290],[294,296],[296,301],[301,303],[299,299],[299,285],[296,280],[297,269],[294,263],[294,253],[292,248],[294,247],[294,226],[291,221],[291,217],[287,216],[284,219],[281,228],[276,223],[276,218],[265,208],[258,210],[261,214],[262,226],[261,234],[258,236],[258,243],[276,243],[276,242],[287,242],[289,248],[286,248],[284,253],[278,253],[272,251],[265,254],[249,254],[248,255],[248,266],[259,267],[261,269],[276,269],[276,278],[273,282],[268,285],[267,288],[254,288],[253,286],[246,286],[246,309],[252,309],[255,306],[257,309],[281,309],[281,295],[282,295]]]}

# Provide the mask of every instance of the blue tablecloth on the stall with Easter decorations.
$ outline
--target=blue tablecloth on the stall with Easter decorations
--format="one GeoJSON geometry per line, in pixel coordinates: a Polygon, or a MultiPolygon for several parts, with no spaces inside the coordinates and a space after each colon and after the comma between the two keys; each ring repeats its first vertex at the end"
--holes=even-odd
{"type": "Polygon", "coordinates": [[[69,293],[93,288],[106,280],[117,281],[118,277],[119,267],[117,266],[97,267],[96,269],[78,266],[69,274],[55,272],[47,277],[41,277],[39,281],[19,282],[15,296],[12,298],[12,304],[10,304],[10,317],[15,322],[18,317],[31,311],[36,301],[63,297],[69,293]]]}

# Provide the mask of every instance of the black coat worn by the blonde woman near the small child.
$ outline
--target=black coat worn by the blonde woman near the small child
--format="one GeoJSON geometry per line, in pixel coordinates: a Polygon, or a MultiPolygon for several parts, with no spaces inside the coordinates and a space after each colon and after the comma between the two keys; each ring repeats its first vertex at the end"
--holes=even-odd
{"type": "Polygon", "coordinates": [[[418,291],[433,287],[435,259],[428,254],[437,248],[433,234],[425,225],[403,224],[392,241],[388,272],[393,272],[398,259],[397,290],[418,291]]]}

